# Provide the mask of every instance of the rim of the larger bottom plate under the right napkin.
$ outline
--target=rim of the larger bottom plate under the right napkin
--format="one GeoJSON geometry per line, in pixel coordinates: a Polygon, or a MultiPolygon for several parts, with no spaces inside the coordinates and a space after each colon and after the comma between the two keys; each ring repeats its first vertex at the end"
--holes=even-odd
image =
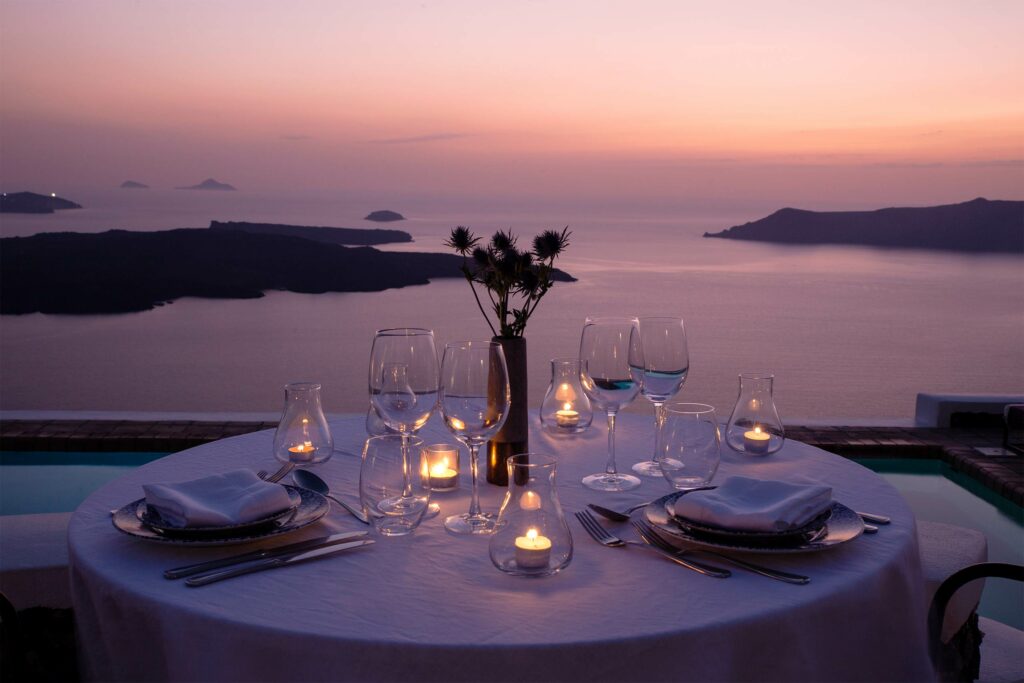
{"type": "Polygon", "coordinates": [[[752,543],[743,538],[709,536],[695,532],[676,521],[670,504],[679,496],[680,492],[676,492],[657,499],[644,508],[643,514],[659,537],[680,548],[702,546],[751,553],[809,553],[853,541],[864,532],[864,522],[860,516],[842,503],[834,501],[828,518],[818,529],[820,532],[811,530],[803,538],[786,539],[782,543],[752,543]]]}

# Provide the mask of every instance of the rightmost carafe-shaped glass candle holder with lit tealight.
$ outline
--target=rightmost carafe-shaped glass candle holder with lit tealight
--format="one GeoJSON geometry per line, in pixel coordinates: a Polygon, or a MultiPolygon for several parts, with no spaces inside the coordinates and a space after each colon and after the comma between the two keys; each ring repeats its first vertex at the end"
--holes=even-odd
{"type": "Polygon", "coordinates": [[[767,456],[785,442],[785,430],[772,395],[774,381],[769,373],[739,375],[739,396],[725,430],[726,441],[733,451],[767,456]]]}

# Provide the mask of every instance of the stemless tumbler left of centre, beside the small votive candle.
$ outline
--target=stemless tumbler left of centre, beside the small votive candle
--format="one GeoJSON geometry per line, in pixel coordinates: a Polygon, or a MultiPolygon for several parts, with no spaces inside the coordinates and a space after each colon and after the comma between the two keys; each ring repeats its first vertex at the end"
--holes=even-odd
{"type": "Polygon", "coordinates": [[[412,533],[430,503],[430,475],[423,467],[423,441],[401,434],[371,436],[362,446],[359,502],[383,536],[412,533]],[[412,461],[406,449],[420,454],[412,461]]]}

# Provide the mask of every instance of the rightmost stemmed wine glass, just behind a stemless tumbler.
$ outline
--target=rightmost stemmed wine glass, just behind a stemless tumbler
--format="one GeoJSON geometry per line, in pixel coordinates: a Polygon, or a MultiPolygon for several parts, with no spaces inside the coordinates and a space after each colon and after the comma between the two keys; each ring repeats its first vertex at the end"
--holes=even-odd
{"type": "Polygon", "coordinates": [[[665,402],[683,388],[690,370],[686,350],[686,329],[681,317],[641,317],[640,346],[643,348],[643,387],[640,392],[654,403],[654,455],[633,466],[637,474],[660,477],[657,465],[658,439],[665,422],[665,402]]]}

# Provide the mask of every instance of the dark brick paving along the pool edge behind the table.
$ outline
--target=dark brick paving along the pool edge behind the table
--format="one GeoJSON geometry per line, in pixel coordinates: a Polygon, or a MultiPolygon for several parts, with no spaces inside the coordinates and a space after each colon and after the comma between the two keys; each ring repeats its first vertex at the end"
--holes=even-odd
{"type": "MultiPolygon", "coordinates": [[[[174,453],[276,426],[256,421],[3,420],[0,451],[174,453]]],[[[786,436],[854,459],[939,459],[1024,506],[1024,457],[1002,451],[998,427],[791,425],[786,436]]]]}

